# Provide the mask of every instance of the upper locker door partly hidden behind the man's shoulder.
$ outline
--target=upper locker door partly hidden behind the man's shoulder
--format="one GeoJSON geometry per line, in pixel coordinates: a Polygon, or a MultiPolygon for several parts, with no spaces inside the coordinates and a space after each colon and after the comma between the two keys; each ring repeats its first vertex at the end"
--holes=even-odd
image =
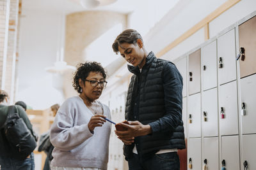
{"type": "Polygon", "coordinates": [[[182,96],[185,97],[187,95],[187,58],[177,61],[175,65],[183,78],[182,96]]]}

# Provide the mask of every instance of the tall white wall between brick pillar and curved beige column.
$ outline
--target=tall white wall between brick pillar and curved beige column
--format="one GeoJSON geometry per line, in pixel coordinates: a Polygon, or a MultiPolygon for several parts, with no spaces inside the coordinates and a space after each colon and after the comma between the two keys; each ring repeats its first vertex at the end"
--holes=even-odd
{"type": "Polygon", "coordinates": [[[33,109],[49,108],[63,101],[63,92],[53,87],[52,74],[45,71],[45,67],[53,66],[56,61],[60,24],[58,13],[22,11],[16,101],[22,100],[33,109]]]}

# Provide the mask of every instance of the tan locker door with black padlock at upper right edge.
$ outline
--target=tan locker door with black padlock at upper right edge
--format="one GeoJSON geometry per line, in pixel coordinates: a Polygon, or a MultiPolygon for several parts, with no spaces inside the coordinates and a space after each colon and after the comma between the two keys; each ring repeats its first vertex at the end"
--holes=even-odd
{"type": "Polygon", "coordinates": [[[244,60],[240,57],[240,77],[256,73],[256,17],[239,25],[239,47],[244,48],[244,60]]]}

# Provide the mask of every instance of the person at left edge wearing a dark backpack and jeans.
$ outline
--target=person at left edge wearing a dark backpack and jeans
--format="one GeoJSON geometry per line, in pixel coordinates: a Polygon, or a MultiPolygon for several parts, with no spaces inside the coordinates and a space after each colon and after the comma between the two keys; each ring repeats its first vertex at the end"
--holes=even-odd
{"type": "MultiPolygon", "coordinates": [[[[3,126],[7,115],[9,106],[9,96],[4,90],[0,90],[0,127],[3,126]]],[[[33,134],[33,129],[29,118],[24,111],[24,108],[16,105],[17,113],[19,117],[22,118],[27,125],[28,129],[33,134]]],[[[35,136],[34,136],[35,137],[35,136]]],[[[13,158],[10,151],[8,150],[8,142],[4,136],[3,129],[0,132],[0,166],[1,170],[33,170],[35,169],[34,153],[32,152],[29,157],[24,160],[18,160],[13,158]]]]}

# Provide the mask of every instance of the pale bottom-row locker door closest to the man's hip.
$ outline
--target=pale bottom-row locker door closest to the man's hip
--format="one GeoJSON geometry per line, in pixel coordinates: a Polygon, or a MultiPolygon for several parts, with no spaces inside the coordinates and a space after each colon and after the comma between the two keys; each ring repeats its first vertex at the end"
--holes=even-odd
{"type": "Polygon", "coordinates": [[[201,166],[201,138],[191,138],[188,144],[188,169],[202,169],[201,166]],[[192,165],[190,168],[189,164],[192,165]]]}

